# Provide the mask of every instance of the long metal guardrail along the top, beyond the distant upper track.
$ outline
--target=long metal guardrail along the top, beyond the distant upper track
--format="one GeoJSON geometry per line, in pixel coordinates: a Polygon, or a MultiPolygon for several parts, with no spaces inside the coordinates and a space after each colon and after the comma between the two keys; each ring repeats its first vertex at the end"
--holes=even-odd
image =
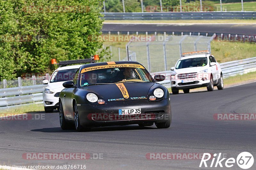
{"type": "Polygon", "coordinates": [[[154,20],[154,19],[255,19],[256,12],[108,12],[102,13],[106,20],[154,20]]]}

